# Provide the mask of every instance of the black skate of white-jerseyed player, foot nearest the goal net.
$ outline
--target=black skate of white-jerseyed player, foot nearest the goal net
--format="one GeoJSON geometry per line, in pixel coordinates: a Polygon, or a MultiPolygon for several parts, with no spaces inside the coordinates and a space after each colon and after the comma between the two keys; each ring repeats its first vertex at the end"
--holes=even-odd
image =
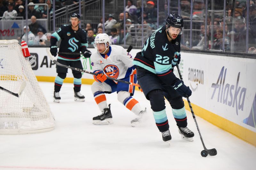
{"type": "Polygon", "coordinates": [[[110,111],[110,104],[108,108],[103,109],[102,114],[92,118],[92,124],[94,125],[106,125],[112,124],[112,114],[110,111]]]}

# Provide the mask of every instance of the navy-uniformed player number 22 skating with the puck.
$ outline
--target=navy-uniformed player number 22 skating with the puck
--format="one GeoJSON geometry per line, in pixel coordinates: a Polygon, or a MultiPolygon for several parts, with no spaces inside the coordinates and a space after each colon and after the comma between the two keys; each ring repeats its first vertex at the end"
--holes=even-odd
{"type": "Polygon", "coordinates": [[[137,65],[138,83],[150,100],[156,126],[163,140],[172,139],[165,111],[164,97],[172,107],[172,114],[182,138],[193,141],[194,133],[187,128],[187,115],[182,97],[191,95],[189,87],[173,74],[176,63],[180,63],[180,37],[183,19],[170,14],[166,25],[152,33],[137,53],[133,64],[137,65]]]}

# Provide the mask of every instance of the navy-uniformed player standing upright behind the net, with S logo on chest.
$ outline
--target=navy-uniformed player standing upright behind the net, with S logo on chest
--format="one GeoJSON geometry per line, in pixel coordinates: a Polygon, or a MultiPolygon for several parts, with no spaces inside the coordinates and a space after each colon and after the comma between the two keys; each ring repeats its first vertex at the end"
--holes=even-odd
{"type": "MultiPolygon", "coordinates": [[[[66,53],[84,53],[84,57],[90,57],[91,52],[87,50],[88,43],[86,39],[86,32],[79,28],[80,15],[72,14],[70,16],[70,25],[62,25],[60,29],[54,32],[51,36],[51,54],[53,56],[57,55],[56,42],[61,39],[59,52],[66,53]]],[[[82,63],[80,61],[80,55],[69,55],[69,54],[58,54],[57,61],[61,64],[75,67],[78,69],[83,69],[82,63]]],[[[54,82],[54,94],[53,101],[60,102],[60,88],[66,78],[68,69],[60,66],[56,66],[58,76],[55,78],[54,82]]],[[[80,71],[72,70],[74,76],[74,93],[75,101],[84,101],[84,96],[80,93],[82,84],[82,73],[80,71]]]]}

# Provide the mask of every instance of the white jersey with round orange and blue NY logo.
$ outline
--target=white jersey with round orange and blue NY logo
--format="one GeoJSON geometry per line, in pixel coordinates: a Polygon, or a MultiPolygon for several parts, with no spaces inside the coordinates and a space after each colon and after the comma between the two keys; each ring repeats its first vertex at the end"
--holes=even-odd
{"type": "Polygon", "coordinates": [[[102,70],[108,77],[122,79],[134,74],[132,55],[123,47],[110,45],[108,54],[100,54],[98,51],[91,55],[92,71],[102,70]]]}

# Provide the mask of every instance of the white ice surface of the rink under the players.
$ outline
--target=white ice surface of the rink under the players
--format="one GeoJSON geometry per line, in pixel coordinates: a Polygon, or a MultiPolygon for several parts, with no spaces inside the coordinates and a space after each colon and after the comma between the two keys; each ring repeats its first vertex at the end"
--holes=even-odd
{"type": "Polygon", "coordinates": [[[170,146],[164,143],[150,103],[140,91],[135,92],[134,98],[141,107],[147,107],[148,121],[143,126],[131,127],[130,121],[136,116],[118,102],[116,93],[106,94],[114,124],[100,126],[92,124],[92,117],[100,111],[91,85],[82,85],[85,102],[76,102],[73,85],[64,83],[60,103],[54,103],[53,83],[39,84],[55,116],[55,129],[38,134],[0,135],[1,170],[255,169],[256,147],[196,116],[206,148],[216,148],[218,152],[216,156],[202,157],[203,146],[190,111],[188,128],[195,133],[194,142],[181,139],[167,103],[172,140],[170,146]]]}

